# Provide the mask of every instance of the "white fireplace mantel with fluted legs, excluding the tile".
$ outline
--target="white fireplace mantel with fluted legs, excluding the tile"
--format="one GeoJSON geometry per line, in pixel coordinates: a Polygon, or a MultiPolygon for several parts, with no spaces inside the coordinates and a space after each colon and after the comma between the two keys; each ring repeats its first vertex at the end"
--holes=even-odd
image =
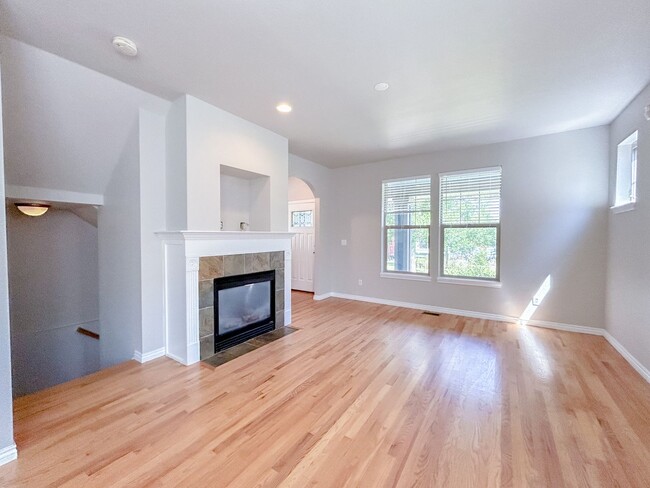
{"type": "Polygon", "coordinates": [[[259,252],[284,252],[284,324],[291,323],[290,232],[158,232],[163,243],[165,350],[182,364],[200,359],[199,259],[259,252]]]}

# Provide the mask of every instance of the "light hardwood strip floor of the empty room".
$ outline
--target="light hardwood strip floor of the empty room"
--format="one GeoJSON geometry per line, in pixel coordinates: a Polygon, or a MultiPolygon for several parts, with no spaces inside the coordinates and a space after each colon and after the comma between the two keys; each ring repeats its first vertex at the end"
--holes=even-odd
{"type": "Polygon", "coordinates": [[[20,398],[1,486],[650,486],[650,385],[601,337],[294,294],[212,369],[20,398]]]}

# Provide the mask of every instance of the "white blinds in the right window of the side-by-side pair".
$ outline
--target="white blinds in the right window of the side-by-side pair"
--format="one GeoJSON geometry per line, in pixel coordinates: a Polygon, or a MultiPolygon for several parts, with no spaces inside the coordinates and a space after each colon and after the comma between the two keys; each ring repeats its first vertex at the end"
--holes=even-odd
{"type": "Polygon", "coordinates": [[[501,167],[440,175],[442,225],[498,224],[501,167]]]}

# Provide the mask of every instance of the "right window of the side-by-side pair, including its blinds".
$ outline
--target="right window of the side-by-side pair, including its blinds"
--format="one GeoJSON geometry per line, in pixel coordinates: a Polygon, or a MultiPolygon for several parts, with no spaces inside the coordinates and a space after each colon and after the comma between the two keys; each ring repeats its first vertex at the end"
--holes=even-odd
{"type": "Polygon", "coordinates": [[[499,281],[501,168],[440,175],[440,276],[499,281]]]}

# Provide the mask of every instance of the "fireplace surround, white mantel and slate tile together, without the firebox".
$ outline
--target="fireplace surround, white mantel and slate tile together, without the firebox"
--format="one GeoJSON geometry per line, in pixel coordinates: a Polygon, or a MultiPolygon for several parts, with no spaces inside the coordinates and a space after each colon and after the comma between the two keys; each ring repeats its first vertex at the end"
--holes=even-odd
{"type": "Polygon", "coordinates": [[[291,236],[288,232],[160,232],[164,255],[166,355],[194,364],[212,353],[212,280],[275,270],[276,328],[291,323],[291,236]],[[203,298],[202,298],[203,296],[203,298]],[[281,298],[281,299],[280,299],[281,298]],[[203,305],[203,308],[200,306],[203,305]]]}

